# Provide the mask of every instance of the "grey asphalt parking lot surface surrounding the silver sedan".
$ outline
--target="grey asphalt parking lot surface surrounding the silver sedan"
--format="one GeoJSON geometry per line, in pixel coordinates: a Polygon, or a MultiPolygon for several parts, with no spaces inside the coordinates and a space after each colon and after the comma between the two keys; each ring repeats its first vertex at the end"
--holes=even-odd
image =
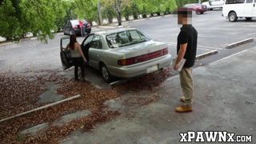
{"type": "MultiPolygon", "coordinates": [[[[198,30],[198,54],[206,54],[218,50],[218,54],[211,58],[210,62],[218,58],[226,57],[240,49],[227,50],[230,43],[238,42],[246,38],[256,38],[254,29],[256,19],[246,21],[238,19],[238,22],[229,22],[222,17],[222,10],[208,11],[205,14],[194,15],[193,25],[198,30]],[[222,55],[222,57],[220,57],[222,55]]],[[[142,30],[150,38],[161,42],[167,42],[170,53],[176,55],[176,38],[181,26],[177,24],[177,18],[167,15],[155,18],[139,19],[123,22],[123,26],[135,27],[142,30]]],[[[92,32],[110,30],[116,28],[116,24],[110,26],[95,26],[92,32]]],[[[47,45],[38,42],[35,38],[27,39],[18,44],[0,45],[0,70],[27,71],[27,70],[58,70],[62,68],[59,58],[59,40],[63,34],[58,34],[47,45]],[[31,59],[33,58],[33,60],[31,59]]],[[[82,42],[84,38],[78,38],[82,42]]],[[[247,46],[250,47],[250,46],[247,46]]],[[[245,49],[243,47],[241,50],[245,49]]],[[[203,62],[206,58],[203,58],[203,62]]],[[[200,63],[200,62],[199,62],[200,63]]],[[[66,72],[73,77],[73,70],[66,72]]],[[[86,68],[86,78],[95,86],[105,87],[100,74],[97,71],[86,68]]]]}

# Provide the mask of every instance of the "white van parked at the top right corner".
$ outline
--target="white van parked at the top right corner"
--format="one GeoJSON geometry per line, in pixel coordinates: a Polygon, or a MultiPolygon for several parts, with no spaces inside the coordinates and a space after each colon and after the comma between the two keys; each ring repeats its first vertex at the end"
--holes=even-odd
{"type": "Polygon", "coordinates": [[[222,16],[236,22],[238,18],[250,20],[256,17],[256,0],[226,0],[223,5],[222,16]]]}

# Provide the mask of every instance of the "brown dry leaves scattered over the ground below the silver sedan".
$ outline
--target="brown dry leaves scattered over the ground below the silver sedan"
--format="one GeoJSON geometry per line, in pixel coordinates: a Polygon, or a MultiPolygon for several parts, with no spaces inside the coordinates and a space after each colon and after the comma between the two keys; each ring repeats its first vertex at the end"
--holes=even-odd
{"type": "MultiPolygon", "coordinates": [[[[59,138],[66,137],[79,128],[90,130],[98,122],[106,122],[118,115],[118,112],[105,111],[104,102],[120,97],[120,94],[127,90],[153,90],[155,86],[159,86],[169,77],[170,69],[134,79],[113,90],[98,90],[90,85],[90,82],[75,82],[70,78],[59,75],[59,72],[42,70],[33,72],[34,75],[28,77],[15,76],[14,74],[0,74],[2,82],[0,83],[0,93],[3,94],[1,98],[6,98],[3,101],[6,106],[0,106],[2,117],[18,114],[23,110],[26,111],[40,106],[36,101],[38,95],[45,90],[46,82],[54,82],[60,85],[61,87],[57,92],[58,94],[63,94],[65,97],[77,94],[82,95],[82,98],[74,101],[62,103],[46,110],[40,110],[20,118],[11,119],[8,122],[0,123],[0,139],[3,143],[56,143],[59,138]],[[47,74],[40,75],[40,72],[46,72],[47,74]],[[7,89],[7,87],[9,88],[7,89]],[[13,95],[13,97],[10,97],[10,95],[13,95]],[[3,112],[2,110],[7,110],[8,112],[3,112]],[[23,138],[23,136],[19,135],[19,132],[25,128],[36,126],[43,122],[54,122],[60,116],[70,114],[77,110],[90,110],[92,114],[86,118],[69,122],[62,127],[50,126],[46,132],[38,136],[33,137],[27,135],[23,138]]],[[[151,102],[156,102],[157,99],[158,95],[154,94],[152,98],[137,98],[135,101],[137,102],[136,104],[144,106],[151,102]]]]}

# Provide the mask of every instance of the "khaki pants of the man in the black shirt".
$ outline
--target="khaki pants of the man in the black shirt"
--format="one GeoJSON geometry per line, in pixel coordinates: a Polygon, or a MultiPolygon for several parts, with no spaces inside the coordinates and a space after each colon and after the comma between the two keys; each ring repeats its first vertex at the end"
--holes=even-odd
{"type": "Polygon", "coordinates": [[[183,96],[185,97],[185,105],[192,106],[192,97],[194,93],[192,68],[183,68],[179,72],[179,77],[181,81],[183,96]]]}

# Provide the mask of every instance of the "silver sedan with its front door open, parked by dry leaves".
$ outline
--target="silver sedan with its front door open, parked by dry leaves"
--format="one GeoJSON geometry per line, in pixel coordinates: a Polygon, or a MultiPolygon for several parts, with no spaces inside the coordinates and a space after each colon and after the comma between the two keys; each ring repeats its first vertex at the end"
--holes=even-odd
{"type": "MultiPolygon", "coordinates": [[[[68,37],[61,39],[64,70],[72,66],[70,54],[64,49],[68,41],[68,37]]],[[[106,82],[114,77],[134,78],[149,74],[171,64],[166,43],[154,41],[134,28],[89,34],[81,47],[89,60],[88,65],[100,70],[106,82]]]]}

